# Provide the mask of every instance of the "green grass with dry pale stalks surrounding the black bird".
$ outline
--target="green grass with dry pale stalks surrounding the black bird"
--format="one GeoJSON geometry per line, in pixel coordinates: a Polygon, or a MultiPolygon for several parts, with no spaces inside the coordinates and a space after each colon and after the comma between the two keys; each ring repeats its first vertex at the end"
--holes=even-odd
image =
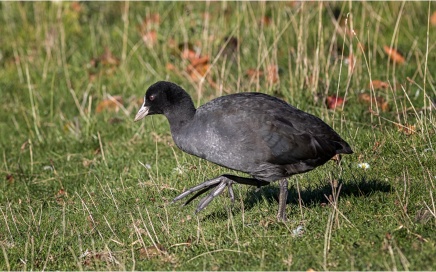
{"type": "Polygon", "coordinates": [[[435,270],[435,10],[2,2],[0,270],[435,270]],[[144,42],[150,31],[157,39],[144,42]],[[210,57],[205,77],[187,72],[184,43],[210,57]],[[246,75],[271,65],[277,80],[246,75]],[[371,87],[376,79],[387,87],[371,87]],[[195,215],[196,202],[170,201],[228,171],[178,150],[163,116],[133,123],[158,80],[181,84],[197,105],[226,92],[282,97],[355,154],[292,178],[287,223],[275,219],[277,184],[235,186],[233,205],[219,197],[195,215]],[[101,104],[116,95],[117,105],[101,104]],[[331,95],[345,104],[328,109],[331,95]]]}

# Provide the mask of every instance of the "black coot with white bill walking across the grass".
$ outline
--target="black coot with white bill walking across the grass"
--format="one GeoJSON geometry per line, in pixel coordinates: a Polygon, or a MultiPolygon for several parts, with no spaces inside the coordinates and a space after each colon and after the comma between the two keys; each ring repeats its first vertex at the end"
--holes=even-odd
{"type": "Polygon", "coordinates": [[[206,194],[196,208],[203,210],[226,188],[234,201],[234,184],[262,187],[279,181],[278,221],[287,221],[288,178],[313,170],[337,154],[353,150],[320,118],[260,92],[217,97],[196,108],[179,85],[158,81],[146,91],[135,116],[163,114],[174,143],[182,151],[219,166],[248,174],[223,174],[175,197],[189,195],[185,205],[206,194]]]}

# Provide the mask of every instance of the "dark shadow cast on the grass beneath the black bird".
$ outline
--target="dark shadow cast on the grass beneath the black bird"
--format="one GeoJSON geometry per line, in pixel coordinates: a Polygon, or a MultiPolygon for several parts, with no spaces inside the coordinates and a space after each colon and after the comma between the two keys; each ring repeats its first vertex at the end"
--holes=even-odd
{"type": "MultiPolygon", "coordinates": [[[[290,179],[292,184],[292,180],[290,179]]],[[[386,182],[380,180],[366,180],[361,178],[360,180],[354,180],[349,182],[339,181],[338,185],[341,185],[339,192],[339,199],[346,199],[347,197],[369,197],[375,192],[390,192],[392,186],[386,182]]],[[[301,201],[306,207],[314,207],[321,205],[322,203],[328,203],[327,197],[333,194],[332,185],[330,183],[317,188],[309,188],[300,191],[301,201]]],[[[256,206],[259,202],[267,201],[268,203],[276,203],[278,208],[278,195],[279,188],[278,183],[272,183],[269,186],[260,188],[259,190],[249,191],[247,197],[244,199],[244,209],[250,210],[256,206]]],[[[299,195],[296,186],[290,187],[288,190],[288,205],[298,205],[299,195]]],[[[232,208],[233,213],[239,213],[240,208],[232,208]]],[[[228,210],[219,209],[213,211],[210,214],[204,216],[203,220],[210,219],[227,219],[228,210]]]]}

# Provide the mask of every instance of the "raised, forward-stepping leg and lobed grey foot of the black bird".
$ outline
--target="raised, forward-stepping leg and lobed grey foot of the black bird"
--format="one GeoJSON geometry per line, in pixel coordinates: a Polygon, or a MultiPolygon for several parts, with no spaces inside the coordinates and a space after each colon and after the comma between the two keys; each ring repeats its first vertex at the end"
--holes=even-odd
{"type": "Polygon", "coordinates": [[[253,185],[257,187],[268,185],[269,182],[262,181],[254,178],[243,178],[233,175],[222,175],[217,178],[207,180],[197,186],[194,186],[187,191],[183,192],[179,196],[173,199],[172,203],[185,198],[186,196],[190,195],[191,193],[195,193],[184,205],[189,204],[192,200],[197,198],[198,196],[206,193],[207,191],[213,189],[209,195],[204,197],[200,203],[198,204],[198,207],[196,209],[196,212],[199,212],[203,210],[216,196],[220,195],[224,189],[227,187],[229,191],[229,196],[232,202],[234,201],[234,193],[233,193],[233,187],[232,185],[234,183],[240,183],[240,184],[246,184],[246,185],[253,185]]]}

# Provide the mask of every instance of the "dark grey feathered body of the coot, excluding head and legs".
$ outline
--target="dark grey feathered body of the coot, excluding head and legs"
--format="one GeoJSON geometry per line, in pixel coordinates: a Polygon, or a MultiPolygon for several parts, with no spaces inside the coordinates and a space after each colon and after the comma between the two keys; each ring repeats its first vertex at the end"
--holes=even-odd
{"type": "Polygon", "coordinates": [[[261,93],[216,98],[173,137],[187,153],[267,181],[352,153],[321,119],[261,93]]]}

